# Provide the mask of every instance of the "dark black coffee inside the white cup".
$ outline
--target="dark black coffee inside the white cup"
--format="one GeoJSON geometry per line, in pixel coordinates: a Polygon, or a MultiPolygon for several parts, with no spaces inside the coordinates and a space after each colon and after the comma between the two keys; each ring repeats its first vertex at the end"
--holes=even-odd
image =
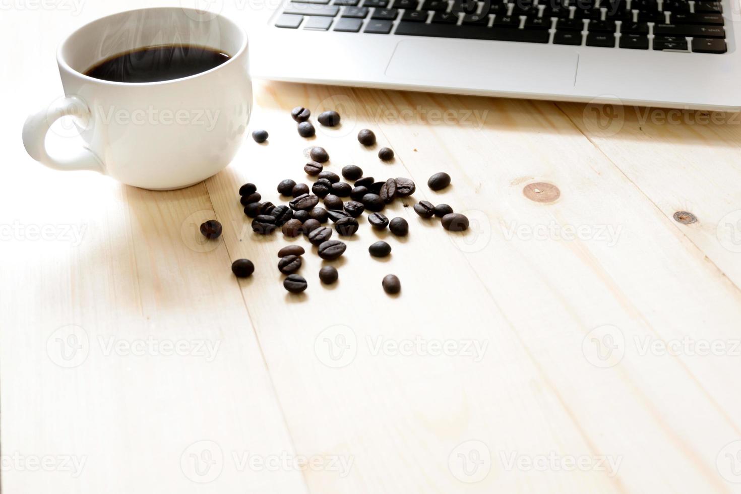
{"type": "Polygon", "coordinates": [[[112,82],[159,82],[219,67],[230,59],[226,53],[189,44],[140,48],[99,62],[86,76],[112,82]]]}

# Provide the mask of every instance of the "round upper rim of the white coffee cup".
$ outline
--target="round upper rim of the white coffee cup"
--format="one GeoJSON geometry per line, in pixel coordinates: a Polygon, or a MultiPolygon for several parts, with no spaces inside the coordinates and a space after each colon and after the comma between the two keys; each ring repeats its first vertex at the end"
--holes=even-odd
{"type": "Polygon", "coordinates": [[[76,30],[73,30],[73,32],[68,34],[64,38],[64,41],[62,41],[62,43],[59,44],[59,47],[56,50],[57,64],[59,64],[59,67],[62,67],[64,70],[67,70],[70,73],[75,74],[81,79],[84,79],[85,81],[95,82],[97,84],[106,84],[106,85],[120,86],[120,87],[159,86],[159,85],[165,85],[165,84],[173,84],[173,83],[182,82],[182,81],[188,81],[190,79],[196,79],[202,76],[206,76],[207,74],[213,73],[216,70],[219,70],[220,68],[226,67],[227,65],[233,63],[233,61],[235,61],[237,58],[239,58],[239,56],[242,56],[242,54],[245,53],[245,51],[247,51],[247,44],[249,43],[249,39],[247,38],[247,31],[245,31],[241,26],[239,26],[239,24],[237,24],[232,19],[229,19],[227,16],[221,13],[213,13],[214,17],[209,22],[215,21],[216,18],[221,18],[223,21],[227,22],[228,24],[231,24],[233,27],[236,27],[236,29],[239,30],[240,33],[242,33],[242,44],[240,44],[239,50],[237,50],[233,56],[230,56],[230,58],[227,61],[225,61],[223,64],[217,65],[216,67],[213,67],[213,69],[205,70],[205,72],[199,72],[197,74],[193,74],[193,76],[180,77],[179,79],[167,79],[166,81],[155,81],[155,82],[106,81],[104,79],[96,79],[94,77],[86,76],[84,73],[80,72],[79,70],[75,70],[72,67],[70,67],[70,64],[67,64],[67,61],[64,60],[64,57],[62,56],[62,49],[67,44],[67,42],[70,41],[70,38],[72,38],[72,36],[74,36],[76,33],[79,33],[79,31],[82,31],[84,28],[86,28],[90,24],[93,24],[93,22],[103,21],[105,19],[110,19],[116,16],[121,16],[123,14],[142,12],[144,10],[146,11],[180,10],[182,12],[192,12],[196,14],[203,13],[203,10],[191,9],[187,7],[144,7],[141,9],[122,10],[121,12],[110,14],[109,16],[103,16],[103,17],[99,17],[98,19],[93,19],[92,21],[86,22],[82,26],[78,27],[76,30]]]}

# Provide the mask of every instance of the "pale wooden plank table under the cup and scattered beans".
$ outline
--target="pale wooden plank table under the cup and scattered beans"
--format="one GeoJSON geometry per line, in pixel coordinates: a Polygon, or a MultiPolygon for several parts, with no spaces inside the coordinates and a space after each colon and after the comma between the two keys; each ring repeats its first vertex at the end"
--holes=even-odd
{"type": "Polygon", "coordinates": [[[256,81],[250,131],[268,143],[155,193],[47,170],[19,138],[59,91],[56,41],[113,10],[0,19],[23,47],[1,69],[3,492],[740,491],[738,116],[256,81]],[[307,141],[297,105],[343,124],[307,141]],[[364,127],[393,163],[358,144],[364,127]],[[236,190],[282,203],[281,179],[310,182],[310,145],[328,170],[417,190],[385,211],[408,238],[364,220],[339,283],[319,284],[309,251],[291,296],[291,242],[253,234],[236,190]],[[453,185],[435,193],[438,171],[453,185]],[[559,198],[525,196],[536,182],[559,198]],[[422,199],[471,229],[422,220],[422,199]],[[368,256],[379,238],[388,259],[368,256]]]}

